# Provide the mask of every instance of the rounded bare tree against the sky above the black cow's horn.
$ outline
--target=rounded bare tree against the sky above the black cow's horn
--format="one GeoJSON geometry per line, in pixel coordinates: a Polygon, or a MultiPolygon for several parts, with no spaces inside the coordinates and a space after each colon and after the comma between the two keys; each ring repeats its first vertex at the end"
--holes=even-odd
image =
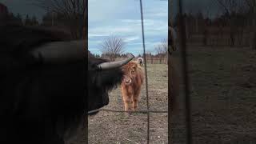
{"type": "Polygon", "coordinates": [[[121,55],[125,50],[125,42],[122,38],[118,38],[117,36],[110,36],[106,38],[104,42],[101,44],[102,54],[110,57],[110,61],[114,61],[118,55],[121,55]]]}

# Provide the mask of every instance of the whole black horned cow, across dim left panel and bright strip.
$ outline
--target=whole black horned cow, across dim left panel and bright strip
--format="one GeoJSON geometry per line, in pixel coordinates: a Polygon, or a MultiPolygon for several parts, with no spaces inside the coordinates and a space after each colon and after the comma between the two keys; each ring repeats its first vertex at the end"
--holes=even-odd
{"type": "Polygon", "coordinates": [[[108,103],[133,57],[89,58],[86,83],[85,51],[85,42],[71,42],[62,30],[0,26],[1,144],[64,144],[88,110],[108,103]]]}

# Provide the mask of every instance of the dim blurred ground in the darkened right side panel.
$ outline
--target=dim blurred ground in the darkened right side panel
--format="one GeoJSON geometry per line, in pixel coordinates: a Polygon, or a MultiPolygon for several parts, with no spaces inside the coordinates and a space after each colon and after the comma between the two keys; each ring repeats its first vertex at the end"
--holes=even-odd
{"type": "MultiPolygon", "coordinates": [[[[190,46],[188,62],[194,143],[256,143],[256,50],[190,46]]],[[[175,144],[186,143],[183,98],[171,121],[175,144]]]]}

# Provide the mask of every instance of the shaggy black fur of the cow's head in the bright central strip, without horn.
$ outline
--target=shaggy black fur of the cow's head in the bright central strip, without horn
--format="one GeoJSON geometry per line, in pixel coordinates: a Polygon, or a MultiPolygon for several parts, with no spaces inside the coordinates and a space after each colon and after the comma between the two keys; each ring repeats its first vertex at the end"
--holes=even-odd
{"type": "Polygon", "coordinates": [[[88,59],[88,110],[105,106],[109,102],[108,91],[115,88],[122,81],[122,70],[97,70],[99,63],[107,62],[101,58],[88,59]]]}

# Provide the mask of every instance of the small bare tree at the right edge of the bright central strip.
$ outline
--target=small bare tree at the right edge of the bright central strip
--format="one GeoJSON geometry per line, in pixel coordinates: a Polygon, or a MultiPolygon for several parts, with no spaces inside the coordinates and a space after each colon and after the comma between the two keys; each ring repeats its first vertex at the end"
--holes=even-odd
{"type": "Polygon", "coordinates": [[[166,39],[163,39],[160,44],[154,46],[154,50],[157,53],[160,63],[162,63],[164,58],[167,58],[168,43],[166,39]]]}

